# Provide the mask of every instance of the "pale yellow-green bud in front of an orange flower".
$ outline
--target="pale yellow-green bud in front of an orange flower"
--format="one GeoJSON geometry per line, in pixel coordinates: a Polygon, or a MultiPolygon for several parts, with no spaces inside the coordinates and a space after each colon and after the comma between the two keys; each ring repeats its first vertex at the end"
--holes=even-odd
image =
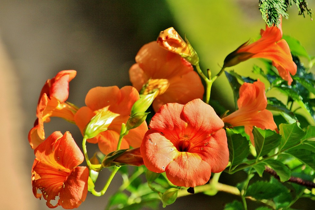
{"type": "Polygon", "coordinates": [[[119,114],[103,109],[87,124],[83,132],[84,137],[90,139],[97,136],[100,132],[106,131],[117,116],[119,116],[119,114]]]}

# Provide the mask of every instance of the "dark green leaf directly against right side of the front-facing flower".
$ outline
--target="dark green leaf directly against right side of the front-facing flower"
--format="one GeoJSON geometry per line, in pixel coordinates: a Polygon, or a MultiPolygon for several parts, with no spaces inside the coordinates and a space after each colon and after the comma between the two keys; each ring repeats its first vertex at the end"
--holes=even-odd
{"type": "Polygon", "coordinates": [[[231,166],[241,163],[249,155],[248,140],[241,134],[233,133],[233,130],[228,128],[226,129],[226,137],[231,166]]]}

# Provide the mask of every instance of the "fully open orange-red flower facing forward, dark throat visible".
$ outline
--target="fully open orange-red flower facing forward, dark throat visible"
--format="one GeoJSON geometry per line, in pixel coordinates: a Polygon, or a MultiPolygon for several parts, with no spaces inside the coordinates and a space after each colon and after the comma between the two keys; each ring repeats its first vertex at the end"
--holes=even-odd
{"type": "Polygon", "coordinates": [[[223,121],[200,99],[169,103],[152,117],[140,151],[145,166],[166,172],[175,185],[195,187],[226,168],[229,150],[223,121]]]}

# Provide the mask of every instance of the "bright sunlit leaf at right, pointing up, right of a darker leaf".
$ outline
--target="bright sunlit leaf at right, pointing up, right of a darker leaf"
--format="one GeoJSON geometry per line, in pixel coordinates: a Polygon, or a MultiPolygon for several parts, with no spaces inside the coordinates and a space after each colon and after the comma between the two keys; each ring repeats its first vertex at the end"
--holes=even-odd
{"type": "Polygon", "coordinates": [[[305,135],[304,131],[298,126],[297,123],[293,123],[291,125],[280,124],[279,133],[282,136],[280,144],[281,150],[300,143],[301,139],[305,135]]]}

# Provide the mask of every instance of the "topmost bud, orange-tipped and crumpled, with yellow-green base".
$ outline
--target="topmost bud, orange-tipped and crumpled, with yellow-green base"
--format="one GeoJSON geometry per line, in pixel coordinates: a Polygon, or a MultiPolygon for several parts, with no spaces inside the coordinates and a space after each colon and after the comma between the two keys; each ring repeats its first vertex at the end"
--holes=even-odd
{"type": "Polygon", "coordinates": [[[192,65],[197,65],[199,63],[198,54],[192,48],[192,45],[188,42],[186,37],[185,41],[173,27],[161,31],[157,37],[157,43],[161,47],[173,53],[179,54],[192,65]]]}

